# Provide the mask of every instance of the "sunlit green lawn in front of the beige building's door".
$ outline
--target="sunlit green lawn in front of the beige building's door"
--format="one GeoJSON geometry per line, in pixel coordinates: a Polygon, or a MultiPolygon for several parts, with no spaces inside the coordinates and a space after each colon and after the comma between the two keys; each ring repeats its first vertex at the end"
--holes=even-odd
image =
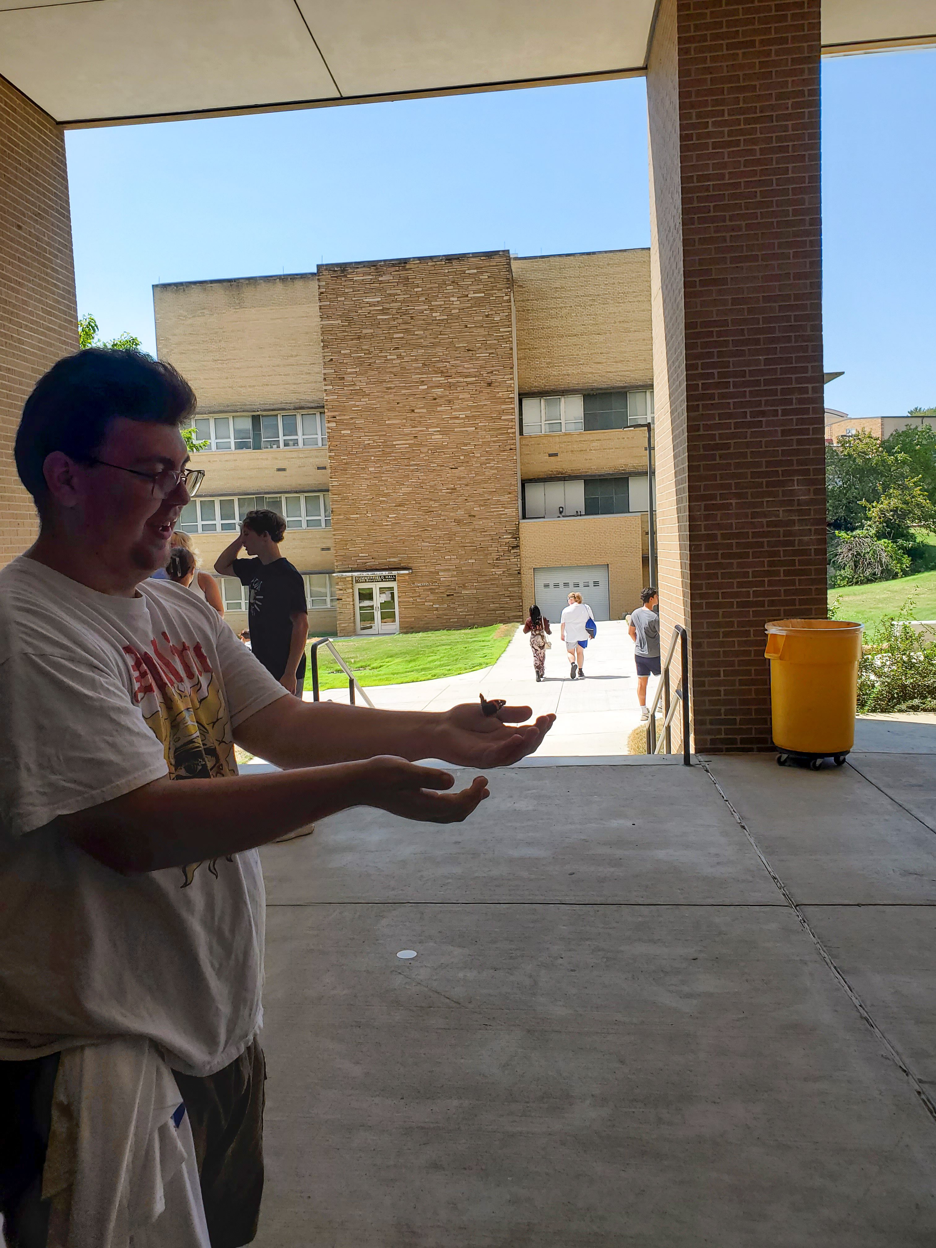
{"type": "MultiPolygon", "coordinates": [[[[361,684],[402,685],[436,680],[462,671],[489,668],[507,649],[518,624],[447,629],[441,633],[398,633],[396,636],[334,638],[342,659],[361,684]]],[[[319,689],[346,689],[347,676],[326,649],[318,651],[319,689]]],[[[312,691],[312,669],[306,665],[306,689],[312,691]]]]}

